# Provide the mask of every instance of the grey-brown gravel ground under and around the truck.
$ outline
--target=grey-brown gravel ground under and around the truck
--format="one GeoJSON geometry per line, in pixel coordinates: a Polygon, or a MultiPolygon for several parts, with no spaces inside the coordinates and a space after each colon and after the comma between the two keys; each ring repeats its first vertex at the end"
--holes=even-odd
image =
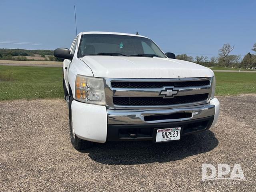
{"type": "Polygon", "coordinates": [[[256,191],[256,96],[219,100],[212,130],[83,152],[70,144],[64,100],[0,102],[0,191],[256,191]],[[202,181],[202,163],[239,163],[246,180],[202,181]]]}

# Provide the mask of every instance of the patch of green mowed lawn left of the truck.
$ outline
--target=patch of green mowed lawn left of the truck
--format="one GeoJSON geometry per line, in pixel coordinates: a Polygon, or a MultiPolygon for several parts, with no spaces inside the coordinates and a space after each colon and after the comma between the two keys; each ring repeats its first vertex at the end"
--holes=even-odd
{"type": "Polygon", "coordinates": [[[62,68],[0,66],[0,100],[62,97],[62,68]]]}

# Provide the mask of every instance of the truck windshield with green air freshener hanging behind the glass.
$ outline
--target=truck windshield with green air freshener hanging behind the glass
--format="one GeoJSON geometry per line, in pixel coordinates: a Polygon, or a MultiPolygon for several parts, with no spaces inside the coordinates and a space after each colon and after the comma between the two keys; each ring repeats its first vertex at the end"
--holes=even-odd
{"type": "Polygon", "coordinates": [[[158,46],[148,38],[114,34],[84,34],[78,50],[78,57],[86,55],[166,58],[158,46]]]}

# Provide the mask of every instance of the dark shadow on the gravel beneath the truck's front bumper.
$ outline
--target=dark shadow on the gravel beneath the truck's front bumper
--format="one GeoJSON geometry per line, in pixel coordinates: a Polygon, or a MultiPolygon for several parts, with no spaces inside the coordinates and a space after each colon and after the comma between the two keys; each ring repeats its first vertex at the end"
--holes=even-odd
{"type": "Polygon", "coordinates": [[[134,165],[153,162],[170,162],[208,152],[218,146],[210,130],[188,135],[179,141],[154,144],[150,141],[106,142],[85,151],[92,160],[102,164],[134,165]]]}

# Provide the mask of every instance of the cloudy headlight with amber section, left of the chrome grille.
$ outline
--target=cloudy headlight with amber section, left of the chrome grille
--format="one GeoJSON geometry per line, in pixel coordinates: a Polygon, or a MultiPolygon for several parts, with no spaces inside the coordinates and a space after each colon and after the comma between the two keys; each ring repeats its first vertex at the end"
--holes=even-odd
{"type": "Polygon", "coordinates": [[[106,105],[103,79],[77,75],[76,100],[106,105]]]}

